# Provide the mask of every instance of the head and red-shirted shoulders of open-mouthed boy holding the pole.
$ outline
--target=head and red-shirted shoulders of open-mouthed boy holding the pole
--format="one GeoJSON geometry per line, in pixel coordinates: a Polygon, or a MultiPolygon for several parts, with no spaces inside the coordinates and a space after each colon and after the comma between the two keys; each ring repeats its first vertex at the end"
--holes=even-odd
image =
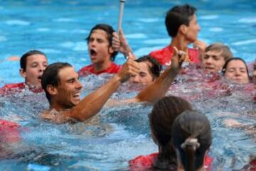
{"type": "Polygon", "coordinates": [[[112,26],[104,23],[97,24],[92,28],[86,38],[92,64],[78,70],[78,75],[116,74],[121,70],[121,65],[114,63],[117,52],[112,48],[112,33],[114,33],[112,26]]]}

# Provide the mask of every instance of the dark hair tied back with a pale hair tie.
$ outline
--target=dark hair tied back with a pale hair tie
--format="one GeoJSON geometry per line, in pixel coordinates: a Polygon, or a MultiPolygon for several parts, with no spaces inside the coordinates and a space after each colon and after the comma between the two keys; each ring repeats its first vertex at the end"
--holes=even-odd
{"type": "Polygon", "coordinates": [[[208,118],[198,111],[184,111],[175,119],[171,133],[185,171],[203,167],[206,150],[212,143],[208,118]]]}

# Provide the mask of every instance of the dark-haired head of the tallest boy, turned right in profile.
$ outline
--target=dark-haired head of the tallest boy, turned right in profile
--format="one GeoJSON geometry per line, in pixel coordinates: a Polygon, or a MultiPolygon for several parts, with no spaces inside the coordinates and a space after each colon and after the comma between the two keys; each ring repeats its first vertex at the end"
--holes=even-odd
{"type": "Polygon", "coordinates": [[[197,39],[200,26],[196,21],[196,8],[185,4],[183,6],[174,6],[166,13],[166,29],[171,36],[184,35],[186,41],[192,43],[197,39]]]}

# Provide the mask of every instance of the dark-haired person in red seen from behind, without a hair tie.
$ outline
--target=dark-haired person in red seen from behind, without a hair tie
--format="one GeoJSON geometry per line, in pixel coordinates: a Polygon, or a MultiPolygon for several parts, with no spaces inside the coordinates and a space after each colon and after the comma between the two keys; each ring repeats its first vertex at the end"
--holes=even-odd
{"type": "MultiPolygon", "coordinates": [[[[175,170],[177,169],[177,156],[172,143],[172,125],[177,116],[183,111],[191,111],[192,106],[185,99],[177,96],[165,96],[154,104],[149,114],[151,136],[159,146],[159,153],[141,155],[129,160],[129,170],[175,170]]],[[[212,159],[206,157],[207,166],[212,159]]]]}

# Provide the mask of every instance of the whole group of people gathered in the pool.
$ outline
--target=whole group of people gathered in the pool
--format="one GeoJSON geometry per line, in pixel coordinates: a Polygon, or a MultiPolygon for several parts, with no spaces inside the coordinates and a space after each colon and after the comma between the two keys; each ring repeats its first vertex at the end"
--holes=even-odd
{"type": "MultiPolygon", "coordinates": [[[[19,72],[24,82],[6,84],[1,87],[0,94],[16,94],[24,89],[45,92],[49,109],[38,117],[58,124],[85,121],[98,114],[105,105],[145,101],[153,105],[149,125],[159,152],[130,160],[129,170],[211,170],[213,158],[208,156],[208,151],[212,135],[208,118],[193,110],[185,99],[165,96],[166,92],[171,84],[175,84],[177,75],[190,76],[193,74],[191,70],[210,75],[212,82],[224,78],[225,82],[218,87],[220,89],[228,89],[228,84],[240,84],[250,91],[255,89],[256,63],[253,72],[249,73],[246,62],[233,57],[228,45],[206,45],[198,40],[201,28],[196,19],[196,8],[191,5],[174,6],[167,11],[165,25],[171,37],[170,44],[137,57],[122,30],[116,33],[110,25],[97,24],[86,38],[92,64],[78,72],[67,62],[48,65],[46,54],[30,50],[20,58],[19,72]],[[188,48],[191,44],[193,48],[188,48]],[[124,65],[114,63],[117,53],[127,58],[124,65]],[[113,76],[102,87],[80,99],[80,77],[102,73],[113,76]],[[132,99],[110,99],[123,82],[139,84],[142,89],[132,99]]],[[[212,89],[215,88],[213,84],[212,89]]],[[[235,126],[243,125],[238,123],[235,126]]],[[[0,142],[20,141],[20,128],[18,123],[0,119],[0,142]]],[[[247,170],[256,170],[256,160],[252,160],[247,170]]]]}

